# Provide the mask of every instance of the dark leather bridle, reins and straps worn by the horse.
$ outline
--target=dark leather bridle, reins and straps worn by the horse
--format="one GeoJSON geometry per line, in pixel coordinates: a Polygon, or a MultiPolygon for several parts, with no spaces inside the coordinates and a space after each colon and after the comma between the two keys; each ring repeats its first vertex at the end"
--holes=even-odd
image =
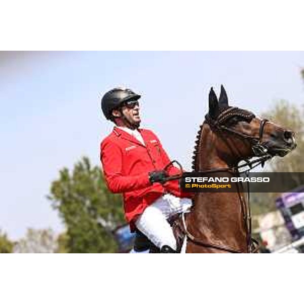
{"type": "MultiPolygon", "coordinates": [[[[239,109],[237,107],[229,107],[227,109],[224,109],[218,115],[216,120],[212,119],[209,115],[206,115],[205,123],[207,123],[209,125],[209,127],[211,128],[211,130],[213,132],[215,132],[216,134],[218,134],[220,136],[220,138],[225,142],[227,147],[229,147],[229,149],[230,149],[231,153],[234,155],[234,157],[236,159],[239,159],[239,161],[241,161],[241,160],[245,161],[245,164],[238,165],[238,163],[239,163],[239,161],[238,161],[236,164],[230,164],[228,168],[216,168],[216,169],[212,169],[212,170],[196,171],[196,172],[199,172],[199,173],[230,172],[236,176],[240,176],[241,173],[245,173],[246,176],[248,176],[249,171],[251,169],[253,169],[254,167],[256,167],[260,164],[263,166],[265,161],[272,158],[272,156],[270,154],[268,154],[268,148],[262,142],[264,127],[267,124],[268,120],[262,119],[260,121],[259,137],[256,138],[249,134],[238,132],[231,127],[227,127],[225,125],[225,122],[232,117],[240,117],[245,120],[251,121],[255,117],[255,115],[249,111],[245,111],[245,110],[239,109]],[[233,148],[233,146],[230,144],[229,140],[227,140],[227,138],[224,134],[225,132],[234,134],[243,140],[244,139],[249,140],[249,142],[251,144],[251,149],[252,149],[253,155],[255,157],[257,157],[257,159],[249,160],[252,157],[250,157],[249,159],[242,158],[241,153],[240,153],[239,149],[237,148],[237,146],[234,145],[234,148],[233,148]],[[248,166],[249,169],[246,169],[242,172],[239,171],[241,168],[246,167],[246,166],[248,166]]],[[[177,163],[180,166],[181,172],[182,172],[182,167],[177,161],[173,161],[170,164],[168,164],[165,167],[165,170],[173,163],[177,163]]],[[[180,179],[180,178],[182,178],[182,176],[180,174],[174,175],[174,176],[168,177],[166,179],[166,181],[173,180],[173,179],[180,179]]],[[[242,213],[242,217],[243,217],[244,225],[245,225],[245,229],[246,229],[247,250],[249,253],[256,252],[258,250],[258,242],[256,240],[254,240],[251,235],[252,229],[251,229],[251,210],[250,210],[250,204],[249,204],[249,200],[250,200],[249,182],[247,182],[247,191],[248,191],[247,203],[241,194],[244,192],[244,191],[242,191],[243,185],[240,182],[236,182],[236,185],[237,185],[237,189],[238,189],[239,202],[241,205],[241,213],[242,213]],[[255,247],[254,244],[257,245],[256,248],[254,248],[255,247]]],[[[184,231],[186,237],[189,240],[191,240],[193,243],[204,246],[204,247],[210,247],[210,248],[214,248],[214,249],[218,249],[218,250],[222,250],[222,251],[226,251],[226,252],[242,253],[240,250],[235,249],[235,248],[231,248],[228,246],[222,246],[222,245],[209,244],[209,243],[205,243],[201,240],[198,240],[195,236],[193,236],[191,233],[189,233],[187,231],[185,220],[184,220],[184,215],[182,215],[182,220],[183,220],[182,230],[184,231]]]]}

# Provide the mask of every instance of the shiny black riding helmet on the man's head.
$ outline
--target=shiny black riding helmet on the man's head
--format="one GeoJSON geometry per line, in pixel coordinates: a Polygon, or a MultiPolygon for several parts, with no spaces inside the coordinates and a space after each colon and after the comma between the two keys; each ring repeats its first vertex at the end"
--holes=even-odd
{"type": "Polygon", "coordinates": [[[101,99],[101,109],[105,118],[111,120],[112,110],[118,108],[124,101],[138,100],[140,97],[140,95],[125,88],[114,88],[106,92],[101,99]]]}

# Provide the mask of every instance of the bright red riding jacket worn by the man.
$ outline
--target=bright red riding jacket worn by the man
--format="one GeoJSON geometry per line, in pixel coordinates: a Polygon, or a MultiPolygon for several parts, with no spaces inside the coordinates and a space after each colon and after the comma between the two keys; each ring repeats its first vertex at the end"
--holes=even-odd
{"type": "MultiPolygon", "coordinates": [[[[164,169],[170,159],[152,131],[138,131],[145,145],[116,127],[100,144],[100,160],[107,186],[112,193],[123,193],[125,216],[131,231],[134,231],[136,218],[164,193],[192,196],[180,191],[178,180],[150,183],[148,173],[164,169]]],[[[178,174],[180,170],[172,165],[168,173],[178,174]]]]}

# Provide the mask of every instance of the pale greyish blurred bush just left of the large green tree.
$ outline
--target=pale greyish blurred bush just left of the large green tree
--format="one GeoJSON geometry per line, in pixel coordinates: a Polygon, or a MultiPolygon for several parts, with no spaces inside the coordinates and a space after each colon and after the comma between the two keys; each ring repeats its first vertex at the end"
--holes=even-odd
{"type": "Polygon", "coordinates": [[[28,229],[24,238],[14,246],[14,253],[54,253],[57,238],[51,229],[28,229]]]}

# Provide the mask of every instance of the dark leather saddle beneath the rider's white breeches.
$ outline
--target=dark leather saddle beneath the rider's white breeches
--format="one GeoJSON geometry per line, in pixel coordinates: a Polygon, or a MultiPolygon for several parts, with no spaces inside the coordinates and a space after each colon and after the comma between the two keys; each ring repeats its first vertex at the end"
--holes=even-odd
{"type": "MultiPolygon", "coordinates": [[[[180,253],[181,247],[185,238],[185,233],[182,229],[182,213],[173,215],[168,219],[169,224],[172,227],[173,234],[176,240],[176,251],[180,253]]],[[[186,213],[185,213],[186,216],[186,213]]],[[[154,245],[142,232],[138,229],[135,231],[135,240],[134,240],[134,251],[143,252],[149,250],[149,253],[160,253],[160,248],[154,245]]]]}

